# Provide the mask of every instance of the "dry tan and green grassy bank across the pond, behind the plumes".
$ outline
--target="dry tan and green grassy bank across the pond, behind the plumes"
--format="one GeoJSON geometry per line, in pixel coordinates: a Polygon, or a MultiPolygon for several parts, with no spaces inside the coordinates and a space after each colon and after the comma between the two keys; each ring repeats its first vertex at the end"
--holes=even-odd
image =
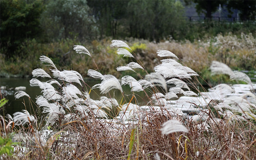
{"type": "MultiPolygon", "coordinates": [[[[137,53],[137,58],[141,59],[148,72],[152,72],[154,66],[158,65],[161,60],[156,54],[159,49],[176,53],[186,66],[199,73],[210,85],[228,81],[225,76],[211,77],[209,66],[213,60],[223,62],[233,70],[256,70],[256,39],[252,34],[241,33],[240,36],[219,34],[216,37],[195,42],[170,40],[154,43],[133,38],[126,40],[133,51],[137,53]]],[[[102,74],[113,74],[117,78],[124,74],[133,74],[130,71],[125,73],[116,71],[115,68],[118,66],[124,66],[134,60],[117,55],[117,50],[110,48],[110,44],[111,40],[109,39],[83,43],[67,39],[48,44],[40,44],[35,40],[27,41],[22,45],[24,56],[16,56],[5,60],[4,55],[0,55],[0,76],[31,76],[33,69],[45,68],[39,62],[39,56],[41,55],[51,58],[61,70],[76,70],[82,76],[87,74],[89,68],[94,70],[98,68],[102,74]],[[74,44],[87,46],[88,50],[94,55],[95,63],[85,55],[75,54],[74,44]],[[95,64],[98,64],[98,66],[95,64]]],[[[201,84],[207,84],[203,79],[200,80],[201,84]]]]}

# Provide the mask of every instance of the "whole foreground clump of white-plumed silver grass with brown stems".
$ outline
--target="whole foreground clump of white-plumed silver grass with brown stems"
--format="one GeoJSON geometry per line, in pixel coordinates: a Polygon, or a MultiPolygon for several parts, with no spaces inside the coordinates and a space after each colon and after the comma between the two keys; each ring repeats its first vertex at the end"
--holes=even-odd
{"type": "MultiPolygon", "coordinates": [[[[156,54],[162,60],[153,68],[156,73],[149,74],[125,42],[115,40],[112,46],[134,57],[133,62],[117,70],[129,70],[139,79],[126,75],[120,83],[115,76],[102,74],[94,54],[83,46],[75,46],[74,50],[85,53],[81,56],[87,56],[94,65],[87,74],[101,80],[95,86],[88,86],[78,72],[59,70],[50,58],[40,57],[49,71],[33,70],[35,78],[30,84],[41,88],[43,95],[33,102],[25,92],[16,92],[16,98],[29,98],[26,107],[32,112],[8,115],[8,124],[19,126],[1,126],[1,130],[12,129],[13,140],[19,142],[12,157],[3,158],[220,160],[256,156],[253,93],[236,94],[225,84],[200,92],[195,84],[198,74],[180,64],[181,59],[172,52],[158,50],[156,54]],[[144,78],[140,72],[147,76],[144,78]],[[37,77],[49,80],[41,82],[37,77]],[[167,84],[172,86],[167,88],[167,84]],[[124,85],[131,88],[131,95],[123,92],[124,85]],[[96,100],[90,98],[95,89],[102,94],[96,100]],[[142,103],[137,92],[145,92],[142,103]],[[127,100],[127,96],[131,98],[127,100]]],[[[121,53],[121,57],[128,55],[121,53]]],[[[215,63],[211,69],[218,69],[215,63]]],[[[223,73],[254,87],[238,72],[230,68],[226,71],[223,73]]]]}

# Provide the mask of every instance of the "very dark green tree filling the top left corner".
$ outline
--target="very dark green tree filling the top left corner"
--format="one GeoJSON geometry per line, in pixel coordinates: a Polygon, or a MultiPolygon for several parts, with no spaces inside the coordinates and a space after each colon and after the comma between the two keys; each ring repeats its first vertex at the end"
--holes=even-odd
{"type": "Polygon", "coordinates": [[[10,58],[27,38],[41,32],[39,18],[43,12],[41,0],[0,0],[0,52],[10,58]]]}

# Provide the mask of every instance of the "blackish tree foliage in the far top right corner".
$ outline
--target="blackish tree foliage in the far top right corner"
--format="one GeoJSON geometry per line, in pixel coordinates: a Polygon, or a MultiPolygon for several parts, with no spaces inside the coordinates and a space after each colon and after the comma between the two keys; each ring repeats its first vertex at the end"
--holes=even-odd
{"type": "Polygon", "coordinates": [[[256,16],[256,0],[229,0],[227,8],[230,13],[231,9],[240,11],[241,20],[255,20],[256,16]]]}

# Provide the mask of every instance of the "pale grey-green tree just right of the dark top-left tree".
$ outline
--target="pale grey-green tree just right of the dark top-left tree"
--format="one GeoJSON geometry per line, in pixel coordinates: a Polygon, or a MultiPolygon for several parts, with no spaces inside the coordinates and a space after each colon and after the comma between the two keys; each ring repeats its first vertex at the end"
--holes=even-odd
{"type": "Polygon", "coordinates": [[[50,0],[41,25],[49,40],[94,39],[97,34],[95,19],[86,0],[50,0]]]}

